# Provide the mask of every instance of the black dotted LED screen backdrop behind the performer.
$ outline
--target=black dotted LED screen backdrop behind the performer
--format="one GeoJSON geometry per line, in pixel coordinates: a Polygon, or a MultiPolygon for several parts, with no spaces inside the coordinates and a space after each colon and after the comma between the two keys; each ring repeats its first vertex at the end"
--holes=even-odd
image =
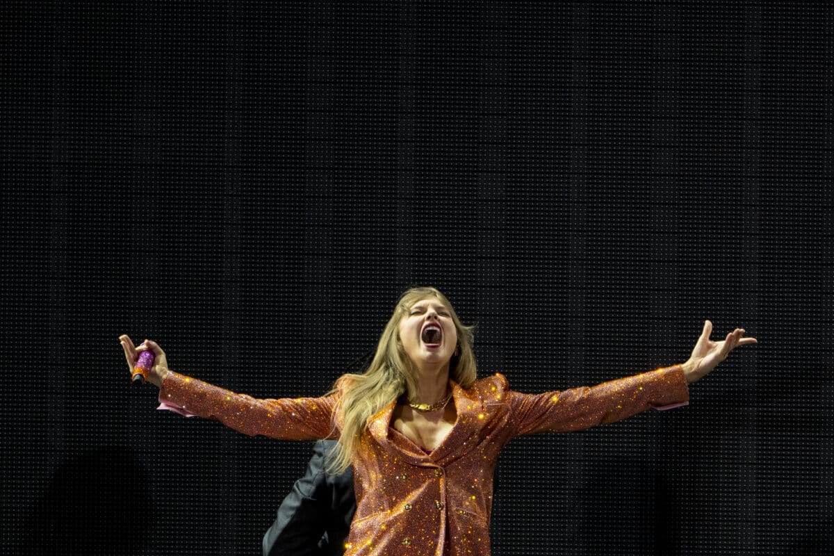
{"type": "Polygon", "coordinates": [[[309,443],[155,412],[118,335],[314,395],[404,288],[540,392],[691,404],[515,440],[493,550],[832,549],[827,3],[6,3],[3,547],[255,554],[309,443]]]}

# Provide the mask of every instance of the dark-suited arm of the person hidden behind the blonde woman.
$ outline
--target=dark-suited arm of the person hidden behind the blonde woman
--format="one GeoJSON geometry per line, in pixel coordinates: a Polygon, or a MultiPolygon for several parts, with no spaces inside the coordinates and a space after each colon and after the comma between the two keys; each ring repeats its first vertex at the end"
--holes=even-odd
{"type": "Polygon", "coordinates": [[[278,508],[264,534],[264,556],[335,556],[344,552],[350,521],[356,511],[354,475],[325,473],[334,440],[314,444],[304,477],[278,508]]]}

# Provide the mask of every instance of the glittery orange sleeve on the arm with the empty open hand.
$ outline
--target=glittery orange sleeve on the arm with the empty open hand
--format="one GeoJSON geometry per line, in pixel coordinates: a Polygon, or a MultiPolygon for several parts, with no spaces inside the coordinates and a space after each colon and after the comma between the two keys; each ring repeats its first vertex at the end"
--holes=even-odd
{"type": "Polygon", "coordinates": [[[508,394],[515,435],[579,430],[614,423],[649,408],[665,409],[689,402],[689,386],[680,365],[590,388],[508,394]]]}

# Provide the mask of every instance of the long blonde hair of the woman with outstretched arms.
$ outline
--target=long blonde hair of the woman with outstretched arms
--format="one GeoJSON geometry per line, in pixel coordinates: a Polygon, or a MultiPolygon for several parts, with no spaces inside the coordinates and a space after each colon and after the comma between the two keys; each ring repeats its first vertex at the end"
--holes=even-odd
{"type": "Polygon", "coordinates": [[[342,433],[339,443],[331,452],[327,466],[329,473],[342,473],[353,463],[369,418],[403,394],[409,398],[417,395],[414,366],[399,339],[399,321],[409,314],[414,303],[426,298],[440,300],[440,303],[449,308],[455,323],[458,354],[451,359],[449,378],[460,384],[461,388],[470,388],[475,382],[477,368],[475,353],[472,351],[474,327],[460,322],[449,299],[437,288],[410,288],[399,298],[394,313],[379,336],[376,353],[368,370],[362,374],[343,374],[334,385],[332,392],[342,392],[337,408],[342,433]]]}

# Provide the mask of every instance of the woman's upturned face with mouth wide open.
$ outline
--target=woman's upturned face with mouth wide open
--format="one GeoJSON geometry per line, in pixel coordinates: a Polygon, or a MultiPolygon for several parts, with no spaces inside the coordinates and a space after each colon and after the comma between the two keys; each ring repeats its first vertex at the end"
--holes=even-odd
{"type": "Polygon", "coordinates": [[[399,340],[418,367],[448,364],[458,343],[451,311],[440,299],[421,299],[399,321],[399,340]]]}

